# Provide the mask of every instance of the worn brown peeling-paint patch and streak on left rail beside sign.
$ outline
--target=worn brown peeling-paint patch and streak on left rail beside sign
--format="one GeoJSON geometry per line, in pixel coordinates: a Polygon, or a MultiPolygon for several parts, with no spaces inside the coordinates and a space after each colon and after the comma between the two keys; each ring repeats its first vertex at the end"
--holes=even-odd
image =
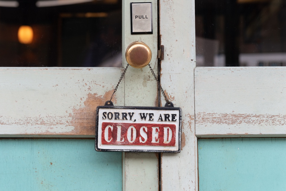
{"type": "MultiPolygon", "coordinates": [[[[32,134],[37,135],[94,135],[96,107],[104,105],[110,99],[112,93],[113,90],[107,91],[103,96],[96,93],[88,93],[83,103],[84,107],[73,108],[72,113],[69,113],[67,116],[39,115],[35,117],[23,116],[17,119],[11,116],[0,116],[0,125],[9,126],[12,130],[14,126],[25,126],[26,128],[23,128],[21,134],[27,135],[32,132],[32,134]],[[30,128],[27,128],[29,126],[30,128]],[[66,128],[60,126],[65,126],[66,128]]],[[[115,98],[113,98],[113,102],[116,103],[115,98]]],[[[65,112],[68,113],[67,110],[65,112]]]]}

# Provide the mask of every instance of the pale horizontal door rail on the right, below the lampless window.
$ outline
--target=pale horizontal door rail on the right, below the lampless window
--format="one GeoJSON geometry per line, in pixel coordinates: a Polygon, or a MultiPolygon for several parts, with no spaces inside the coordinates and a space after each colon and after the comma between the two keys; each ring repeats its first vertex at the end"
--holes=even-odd
{"type": "Polygon", "coordinates": [[[197,67],[198,137],[285,137],[285,67],[197,67]]]}

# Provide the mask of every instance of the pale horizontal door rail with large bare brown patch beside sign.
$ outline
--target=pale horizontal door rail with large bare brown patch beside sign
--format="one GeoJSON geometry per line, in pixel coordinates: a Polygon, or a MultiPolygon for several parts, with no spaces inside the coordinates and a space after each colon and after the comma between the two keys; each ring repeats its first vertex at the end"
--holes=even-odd
{"type": "MultiPolygon", "coordinates": [[[[94,137],[120,68],[0,68],[0,137],[94,137]]],[[[122,82],[124,83],[124,81],[122,82]]],[[[114,103],[124,105],[124,85],[114,103]]]]}

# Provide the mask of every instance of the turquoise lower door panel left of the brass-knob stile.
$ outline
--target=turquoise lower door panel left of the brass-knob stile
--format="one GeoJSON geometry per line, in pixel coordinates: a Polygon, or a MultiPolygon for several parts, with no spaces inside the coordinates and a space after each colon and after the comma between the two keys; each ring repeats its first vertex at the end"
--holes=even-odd
{"type": "Polygon", "coordinates": [[[122,190],[122,153],[94,140],[1,139],[0,190],[122,190]]]}

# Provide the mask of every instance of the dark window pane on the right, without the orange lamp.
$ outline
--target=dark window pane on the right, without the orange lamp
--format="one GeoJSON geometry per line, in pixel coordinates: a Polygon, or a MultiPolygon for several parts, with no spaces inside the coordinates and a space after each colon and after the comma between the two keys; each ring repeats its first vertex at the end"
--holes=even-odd
{"type": "Polygon", "coordinates": [[[197,66],[286,66],[286,1],[195,1],[197,66]]]}

